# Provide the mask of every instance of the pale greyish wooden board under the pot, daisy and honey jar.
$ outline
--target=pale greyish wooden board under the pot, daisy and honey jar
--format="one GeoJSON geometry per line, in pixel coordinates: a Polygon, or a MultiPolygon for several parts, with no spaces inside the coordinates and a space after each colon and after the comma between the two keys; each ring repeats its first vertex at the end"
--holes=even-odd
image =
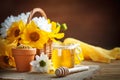
{"type": "Polygon", "coordinates": [[[90,69],[74,74],[67,75],[66,77],[57,78],[55,74],[41,74],[41,73],[19,73],[16,70],[6,70],[0,72],[2,79],[25,79],[25,80],[83,80],[90,78],[98,69],[98,65],[89,65],[90,69]]]}

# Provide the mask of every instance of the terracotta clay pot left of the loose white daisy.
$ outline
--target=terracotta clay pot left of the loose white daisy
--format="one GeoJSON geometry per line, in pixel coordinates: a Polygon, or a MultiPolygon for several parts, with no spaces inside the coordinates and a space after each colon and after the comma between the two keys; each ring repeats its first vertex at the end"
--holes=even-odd
{"type": "Polygon", "coordinates": [[[36,49],[12,49],[18,72],[28,72],[31,70],[30,62],[34,60],[36,49]]]}

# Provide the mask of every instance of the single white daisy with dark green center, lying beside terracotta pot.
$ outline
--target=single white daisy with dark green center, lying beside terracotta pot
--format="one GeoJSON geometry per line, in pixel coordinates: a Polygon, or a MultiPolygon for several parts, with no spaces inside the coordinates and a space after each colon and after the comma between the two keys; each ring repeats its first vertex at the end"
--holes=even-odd
{"type": "Polygon", "coordinates": [[[48,59],[48,56],[44,53],[41,53],[40,56],[35,56],[36,60],[30,62],[33,72],[49,72],[51,68],[51,61],[48,59]]]}

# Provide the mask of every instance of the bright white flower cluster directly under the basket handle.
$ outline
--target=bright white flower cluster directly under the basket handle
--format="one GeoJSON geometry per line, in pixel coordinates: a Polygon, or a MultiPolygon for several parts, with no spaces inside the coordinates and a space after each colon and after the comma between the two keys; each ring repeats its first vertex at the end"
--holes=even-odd
{"type": "Polygon", "coordinates": [[[36,25],[38,25],[41,30],[51,32],[51,24],[49,24],[48,20],[44,17],[35,17],[32,20],[35,22],[36,25]]]}

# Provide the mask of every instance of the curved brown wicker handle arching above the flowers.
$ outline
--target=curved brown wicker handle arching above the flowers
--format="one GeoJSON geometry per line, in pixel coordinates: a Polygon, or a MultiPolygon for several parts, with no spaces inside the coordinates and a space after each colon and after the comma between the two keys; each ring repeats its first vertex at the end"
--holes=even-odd
{"type": "Polygon", "coordinates": [[[39,12],[45,19],[47,19],[47,16],[46,16],[46,14],[45,14],[45,12],[44,12],[43,9],[41,9],[41,8],[34,8],[34,9],[30,12],[30,15],[29,15],[29,17],[28,17],[27,23],[29,23],[29,22],[31,21],[33,15],[34,15],[36,12],[39,12]]]}

